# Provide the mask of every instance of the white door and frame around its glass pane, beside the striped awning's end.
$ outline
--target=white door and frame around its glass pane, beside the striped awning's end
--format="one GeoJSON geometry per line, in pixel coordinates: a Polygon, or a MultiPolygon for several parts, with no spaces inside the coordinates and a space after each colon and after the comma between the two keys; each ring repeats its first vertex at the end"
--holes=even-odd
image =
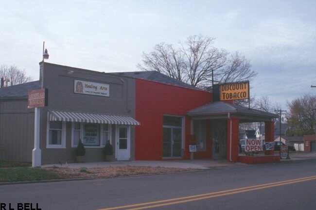
{"type": "Polygon", "coordinates": [[[115,158],[118,161],[129,161],[131,158],[131,126],[127,125],[116,125],[115,129],[115,144],[116,153],[115,158]],[[120,138],[120,128],[126,128],[127,130],[127,149],[120,149],[119,138],[120,138]]]}

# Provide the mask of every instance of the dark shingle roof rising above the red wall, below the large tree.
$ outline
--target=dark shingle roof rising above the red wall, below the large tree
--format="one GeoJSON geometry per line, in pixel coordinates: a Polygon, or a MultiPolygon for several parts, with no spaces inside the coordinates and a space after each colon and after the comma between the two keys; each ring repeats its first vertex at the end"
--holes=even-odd
{"type": "Polygon", "coordinates": [[[133,71],[133,72],[111,72],[110,74],[122,75],[126,77],[138,78],[149,81],[157,81],[165,84],[172,84],[180,87],[187,87],[196,90],[201,90],[183,81],[178,81],[174,78],[168,77],[167,75],[161,74],[158,71],[133,71]]]}

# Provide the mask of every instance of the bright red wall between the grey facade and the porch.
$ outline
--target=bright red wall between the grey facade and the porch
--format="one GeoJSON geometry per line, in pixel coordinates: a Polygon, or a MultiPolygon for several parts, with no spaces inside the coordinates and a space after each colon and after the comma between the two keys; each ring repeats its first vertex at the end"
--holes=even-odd
{"type": "MultiPolygon", "coordinates": [[[[162,159],[164,114],[185,116],[211,100],[209,92],[136,79],[136,119],[141,125],[135,130],[135,159],[162,159]]],[[[191,122],[186,117],[184,158],[190,158],[190,133],[191,122]]]]}

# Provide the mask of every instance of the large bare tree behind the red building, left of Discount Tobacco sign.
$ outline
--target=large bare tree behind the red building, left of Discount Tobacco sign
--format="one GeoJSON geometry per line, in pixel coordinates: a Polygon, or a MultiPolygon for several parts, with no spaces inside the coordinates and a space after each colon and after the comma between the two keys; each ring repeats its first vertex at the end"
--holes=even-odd
{"type": "Polygon", "coordinates": [[[212,46],[213,38],[193,35],[180,48],[161,43],[150,53],[143,52],[143,65],[137,67],[145,71],[158,71],[195,87],[207,87],[211,84],[212,72],[216,76],[218,69],[226,65],[227,51],[212,46]]]}

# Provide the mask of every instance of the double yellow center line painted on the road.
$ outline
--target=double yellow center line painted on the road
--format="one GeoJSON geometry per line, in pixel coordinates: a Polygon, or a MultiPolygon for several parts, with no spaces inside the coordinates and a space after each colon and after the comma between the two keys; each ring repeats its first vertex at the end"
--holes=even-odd
{"type": "Polygon", "coordinates": [[[281,186],[281,185],[286,185],[286,184],[294,184],[297,182],[309,181],[309,180],[314,180],[314,179],[316,179],[316,176],[297,178],[297,179],[291,179],[291,180],[285,180],[285,181],[278,181],[278,182],[261,184],[261,185],[254,185],[254,186],[219,191],[219,192],[214,192],[214,193],[198,194],[198,195],[191,195],[191,196],[185,196],[185,197],[179,197],[179,198],[173,198],[173,199],[159,200],[159,201],[154,201],[154,202],[112,207],[112,208],[106,208],[106,209],[101,209],[101,210],[117,210],[117,209],[126,209],[126,208],[132,208],[132,207],[138,207],[138,208],[129,209],[129,210],[149,209],[149,208],[175,205],[175,204],[192,202],[192,201],[203,200],[203,199],[209,199],[212,197],[219,197],[219,196],[225,196],[225,195],[230,195],[230,194],[244,193],[244,192],[248,192],[248,191],[271,188],[271,187],[276,187],[276,186],[281,186]],[[153,204],[156,204],[156,205],[153,205],[153,204]]]}

